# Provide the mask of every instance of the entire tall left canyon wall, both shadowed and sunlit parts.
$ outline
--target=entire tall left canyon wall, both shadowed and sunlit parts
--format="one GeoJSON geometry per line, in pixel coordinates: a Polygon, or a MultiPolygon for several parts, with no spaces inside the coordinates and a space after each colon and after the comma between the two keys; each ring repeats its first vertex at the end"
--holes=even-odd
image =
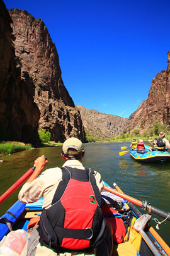
{"type": "Polygon", "coordinates": [[[37,143],[38,129],[63,142],[86,141],[79,110],[64,86],[47,27],[0,0],[0,140],[37,143]]]}

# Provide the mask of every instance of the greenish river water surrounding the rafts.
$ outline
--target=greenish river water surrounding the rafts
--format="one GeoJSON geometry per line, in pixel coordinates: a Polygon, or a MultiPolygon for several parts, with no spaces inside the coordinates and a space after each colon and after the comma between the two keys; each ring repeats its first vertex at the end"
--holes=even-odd
{"type": "MultiPolygon", "coordinates": [[[[139,163],[130,158],[129,152],[120,156],[120,148],[129,145],[129,142],[84,144],[86,153],[82,162],[86,168],[98,171],[110,186],[115,182],[127,195],[141,201],[147,200],[151,205],[170,212],[170,162],[139,163]]],[[[0,195],[28,171],[40,155],[44,154],[48,159],[46,169],[62,166],[64,160],[60,157],[60,151],[61,147],[47,147],[1,156],[0,160],[4,161],[0,162],[0,195]]],[[[19,191],[20,188],[1,204],[0,214],[17,200],[19,191]]],[[[162,221],[159,217],[152,217],[162,221]]],[[[156,222],[151,221],[151,224],[156,228],[156,222]]],[[[163,222],[159,228],[157,233],[170,245],[170,222],[163,222]]]]}

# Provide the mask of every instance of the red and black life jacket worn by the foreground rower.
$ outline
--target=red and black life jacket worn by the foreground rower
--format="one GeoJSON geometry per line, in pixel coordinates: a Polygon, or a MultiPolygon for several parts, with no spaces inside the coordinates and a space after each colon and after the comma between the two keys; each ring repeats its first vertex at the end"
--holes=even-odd
{"type": "Polygon", "coordinates": [[[64,167],[52,200],[52,206],[42,211],[39,234],[45,245],[69,250],[94,247],[102,240],[105,219],[101,210],[94,171],[64,167]]]}

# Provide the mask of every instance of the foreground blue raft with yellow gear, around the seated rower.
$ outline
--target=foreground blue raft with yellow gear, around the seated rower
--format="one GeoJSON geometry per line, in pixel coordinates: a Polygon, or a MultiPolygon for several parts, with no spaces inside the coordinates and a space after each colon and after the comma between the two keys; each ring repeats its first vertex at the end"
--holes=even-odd
{"type": "MultiPolygon", "coordinates": [[[[116,209],[117,211],[116,216],[113,214],[112,216],[106,217],[111,217],[113,222],[116,217],[122,218],[126,228],[122,242],[116,243],[114,241],[113,256],[170,255],[169,247],[164,240],[149,226],[151,215],[142,215],[134,204],[108,192],[106,188],[110,188],[110,186],[105,183],[105,190],[101,193],[101,197],[105,200],[106,205],[109,205],[111,209],[116,209]]],[[[115,188],[118,190],[116,184],[115,188]]],[[[119,191],[122,192],[120,189],[119,191]]],[[[0,240],[7,237],[6,235],[8,235],[8,233],[11,233],[9,231],[10,225],[15,231],[21,229],[26,233],[31,233],[33,228],[37,225],[40,214],[42,213],[42,205],[43,198],[40,198],[40,200],[32,204],[22,204],[19,201],[13,204],[11,208],[1,216],[0,240]]]]}

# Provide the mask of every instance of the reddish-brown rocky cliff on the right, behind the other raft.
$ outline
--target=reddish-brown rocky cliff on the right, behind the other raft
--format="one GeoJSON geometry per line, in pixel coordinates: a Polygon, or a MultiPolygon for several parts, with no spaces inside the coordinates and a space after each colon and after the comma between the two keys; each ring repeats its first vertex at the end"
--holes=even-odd
{"type": "MultiPolygon", "coordinates": [[[[170,51],[167,53],[170,62],[170,51]]],[[[152,127],[154,121],[170,125],[170,63],[167,70],[157,73],[152,80],[147,100],[143,101],[137,111],[129,118],[129,130],[140,128],[145,130],[152,127]]]]}

